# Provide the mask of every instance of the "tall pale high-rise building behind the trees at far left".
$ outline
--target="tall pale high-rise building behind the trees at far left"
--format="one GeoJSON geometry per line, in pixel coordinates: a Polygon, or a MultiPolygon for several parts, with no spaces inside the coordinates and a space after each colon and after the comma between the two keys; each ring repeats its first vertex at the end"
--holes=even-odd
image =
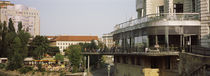
{"type": "Polygon", "coordinates": [[[0,6],[1,22],[9,22],[11,18],[15,29],[18,28],[18,23],[22,22],[23,29],[32,36],[40,35],[40,16],[37,9],[20,4],[12,4],[9,1],[0,1],[0,6]]]}

